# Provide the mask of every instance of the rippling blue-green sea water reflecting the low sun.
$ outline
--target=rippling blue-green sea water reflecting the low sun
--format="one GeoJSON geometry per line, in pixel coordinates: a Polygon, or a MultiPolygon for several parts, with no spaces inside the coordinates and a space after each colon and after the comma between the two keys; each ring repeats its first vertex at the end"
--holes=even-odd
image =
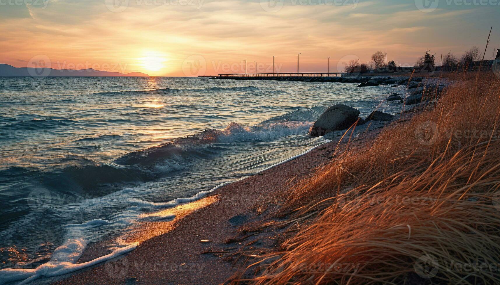
{"type": "Polygon", "coordinates": [[[0,269],[35,268],[68,241],[84,250],[302,153],[324,142],[307,131],[334,103],[400,111],[383,100],[403,87],[356,85],[0,77],[0,269]]]}

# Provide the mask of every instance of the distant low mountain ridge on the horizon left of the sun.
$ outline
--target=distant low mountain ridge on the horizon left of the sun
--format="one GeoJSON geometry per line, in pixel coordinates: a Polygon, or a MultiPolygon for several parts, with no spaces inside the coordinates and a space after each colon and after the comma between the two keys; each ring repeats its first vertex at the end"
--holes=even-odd
{"type": "Polygon", "coordinates": [[[13,67],[12,65],[0,63],[0,76],[149,76],[141,72],[119,73],[88,69],[52,69],[33,67],[13,67]]]}

